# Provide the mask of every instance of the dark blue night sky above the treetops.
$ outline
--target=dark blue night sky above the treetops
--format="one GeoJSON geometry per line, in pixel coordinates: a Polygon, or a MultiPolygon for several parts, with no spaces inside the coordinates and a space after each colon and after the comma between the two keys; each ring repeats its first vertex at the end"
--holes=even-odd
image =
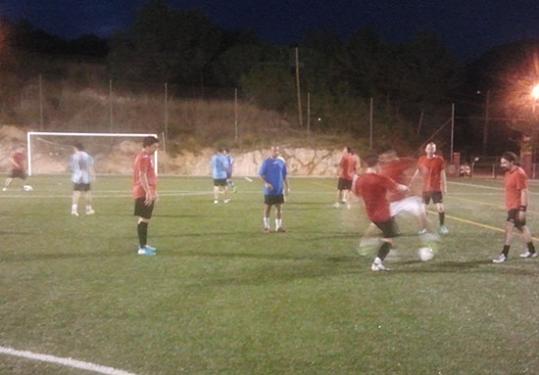
{"type": "MultiPolygon", "coordinates": [[[[0,14],[26,18],[65,38],[105,37],[127,27],[145,0],[2,0],[0,14]]],[[[461,58],[489,47],[539,39],[539,1],[439,0],[169,0],[177,9],[201,9],[227,29],[251,29],[275,43],[301,41],[306,30],[327,28],[346,37],[372,26],[384,38],[406,41],[419,31],[436,32],[461,58]]]]}

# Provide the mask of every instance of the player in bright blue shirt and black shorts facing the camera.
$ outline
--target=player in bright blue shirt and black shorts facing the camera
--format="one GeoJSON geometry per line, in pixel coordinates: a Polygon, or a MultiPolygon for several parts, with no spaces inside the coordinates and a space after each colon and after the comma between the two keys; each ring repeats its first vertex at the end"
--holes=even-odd
{"type": "Polygon", "coordinates": [[[275,206],[276,209],[275,231],[285,232],[281,206],[289,187],[286,163],[279,157],[279,147],[271,148],[271,156],[264,160],[259,174],[264,181],[264,232],[271,231],[271,206],[275,206]]]}

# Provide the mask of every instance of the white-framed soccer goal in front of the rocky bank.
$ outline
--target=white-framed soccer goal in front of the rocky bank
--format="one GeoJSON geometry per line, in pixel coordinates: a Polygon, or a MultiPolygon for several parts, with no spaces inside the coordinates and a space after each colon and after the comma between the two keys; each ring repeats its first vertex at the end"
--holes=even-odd
{"type": "MultiPolygon", "coordinates": [[[[69,173],[73,146],[81,143],[95,161],[98,174],[130,175],[135,155],[142,149],[142,138],[157,134],[28,132],[26,134],[28,175],[69,173]]],[[[158,154],[154,154],[158,170],[158,154]]]]}

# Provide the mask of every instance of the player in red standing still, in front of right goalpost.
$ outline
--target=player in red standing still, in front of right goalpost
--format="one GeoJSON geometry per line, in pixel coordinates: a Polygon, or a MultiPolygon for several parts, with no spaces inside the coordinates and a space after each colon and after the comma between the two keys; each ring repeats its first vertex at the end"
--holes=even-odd
{"type": "Polygon", "coordinates": [[[139,239],[139,255],[155,255],[155,247],[149,246],[148,225],[152,218],[153,208],[157,200],[157,176],[154,171],[152,156],[159,148],[156,137],[145,137],[142,151],[136,158],[133,167],[133,198],[135,199],[135,216],[139,239]]]}

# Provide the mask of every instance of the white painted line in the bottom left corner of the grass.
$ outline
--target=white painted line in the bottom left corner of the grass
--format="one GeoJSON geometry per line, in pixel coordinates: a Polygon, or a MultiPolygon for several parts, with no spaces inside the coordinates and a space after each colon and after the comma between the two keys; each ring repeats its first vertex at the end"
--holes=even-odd
{"type": "Polygon", "coordinates": [[[64,366],[64,367],[71,367],[71,368],[77,368],[81,370],[95,372],[97,374],[135,375],[132,372],[118,370],[113,367],[96,365],[95,363],[79,361],[73,358],[56,357],[54,355],[34,353],[34,352],[26,351],[26,350],[15,350],[13,348],[8,348],[5,346],[0,346],[0,354],[31,359],[33,361],[39,361],[39,362],[54,363],[54,364],[64,366]]]}

